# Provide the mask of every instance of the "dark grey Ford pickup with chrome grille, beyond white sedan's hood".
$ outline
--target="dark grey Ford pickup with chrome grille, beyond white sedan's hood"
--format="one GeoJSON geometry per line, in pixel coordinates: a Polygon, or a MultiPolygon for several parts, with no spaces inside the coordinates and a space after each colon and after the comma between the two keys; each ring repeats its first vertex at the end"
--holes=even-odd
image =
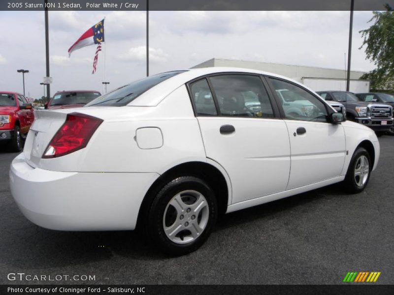
{"type": "Polygon", "coordinates": [[[379,134],[393,126],[393,107],[387,104],[361,101],[349,91],[317,91],[326,101],[342,103],[346,108],[346,118],[370,127],[379,134]]]}

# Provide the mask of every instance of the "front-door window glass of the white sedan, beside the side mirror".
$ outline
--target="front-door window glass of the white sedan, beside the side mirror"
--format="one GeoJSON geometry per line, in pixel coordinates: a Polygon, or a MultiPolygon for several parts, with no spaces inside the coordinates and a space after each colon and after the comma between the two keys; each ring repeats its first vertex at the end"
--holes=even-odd
{"type": "Polygon", "coordinates": [[[325,104],[317,97],[292,83],[274,78],[269,80],[279,97],[285,118],[328,122],[325,104]]]}

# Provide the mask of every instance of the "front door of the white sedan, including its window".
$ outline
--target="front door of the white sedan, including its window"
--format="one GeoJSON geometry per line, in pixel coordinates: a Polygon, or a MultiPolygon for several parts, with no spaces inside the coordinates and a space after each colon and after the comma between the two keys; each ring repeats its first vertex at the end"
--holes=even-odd
{"type": "MultiPolygon", "coordinates": [[[[329,122],[329,109],[308,90],[288,81],[269,77],[272,89],[287,89],[292,97],[308,101],[299,112],[285,113],[277,97],[289,132],[291,172],[287,189],[320,182],[341,174],[345,161],[345,133],[341,124],[329,122]],[[301,115],[298,115],[301,114],[301,115]]],[[[276,92],[276,91],[275,91],[276,92]]]]}

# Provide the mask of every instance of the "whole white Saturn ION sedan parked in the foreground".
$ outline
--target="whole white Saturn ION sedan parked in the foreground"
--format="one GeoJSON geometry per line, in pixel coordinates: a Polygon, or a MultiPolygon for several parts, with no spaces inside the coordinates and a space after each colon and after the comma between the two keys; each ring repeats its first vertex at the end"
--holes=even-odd
{"type": "Polygon", "coordinates": [[[37,111],[10,186],[39,226],[141,227],[182,255],[207,239],[220,212],[340,181],[361,192],[378,159],[371,129],[295,81],[203,68],[150,76],[83,108],[37,111]],[[297,112],[285,111],[283,89],[297,112]]]}

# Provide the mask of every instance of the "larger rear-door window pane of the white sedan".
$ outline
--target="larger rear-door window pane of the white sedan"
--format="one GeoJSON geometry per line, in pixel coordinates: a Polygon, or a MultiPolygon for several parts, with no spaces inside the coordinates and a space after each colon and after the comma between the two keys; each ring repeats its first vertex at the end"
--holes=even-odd
{"type": "Polygon", "coordinates": [[[258,76],[220,75],[209,78],[221,116],[272,118],[272,106],[258,76]]]}

